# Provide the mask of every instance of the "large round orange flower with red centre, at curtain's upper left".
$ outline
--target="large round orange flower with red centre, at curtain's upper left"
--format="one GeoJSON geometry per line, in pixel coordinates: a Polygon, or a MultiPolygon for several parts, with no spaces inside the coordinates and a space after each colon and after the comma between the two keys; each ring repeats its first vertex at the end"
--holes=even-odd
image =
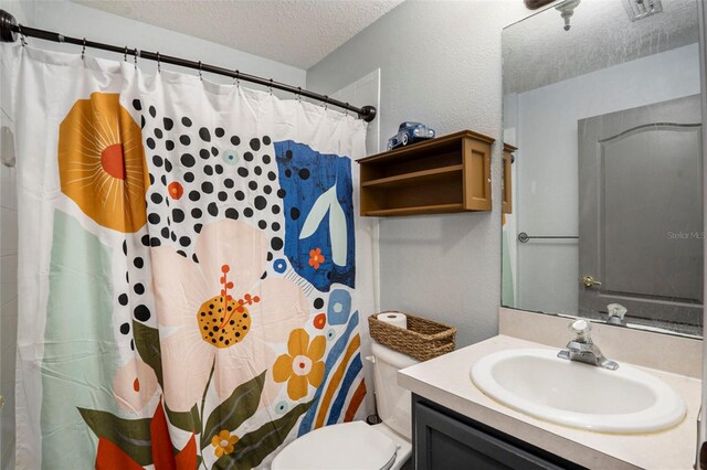
{"type": "Polygon", "coordinates": [[[97,224],[124,233],[145,225],[143,137],[118,94],[74,104],[59,126],[59,173],[62,192],[97,224]]]}

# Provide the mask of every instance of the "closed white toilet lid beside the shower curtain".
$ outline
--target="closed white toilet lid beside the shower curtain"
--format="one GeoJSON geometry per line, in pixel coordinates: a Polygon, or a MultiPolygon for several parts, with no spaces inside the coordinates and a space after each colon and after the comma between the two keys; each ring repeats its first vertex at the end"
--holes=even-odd
{"type": "Polygon", "coordinates": [[[273,470],[381,470],[395,461],[395,444],[363,421],[316,429],[273,460],[273,470]]]}

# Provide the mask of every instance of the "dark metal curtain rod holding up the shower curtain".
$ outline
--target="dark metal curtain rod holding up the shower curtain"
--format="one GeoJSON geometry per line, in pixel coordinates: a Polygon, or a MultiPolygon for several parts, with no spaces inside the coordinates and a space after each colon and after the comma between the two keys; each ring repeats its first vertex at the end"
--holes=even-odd
{"type": "Polygon", "coordinates": [[[363,119],[366,122],[370,122],[376,118],[374,106],[363,106],[357,108],[348,103],[339,102],[338,99],[329,98],[327,95],[320,95],[318,93],[308,92],[300,87],[295,87],[279,82],[274,82],[272,78],[263,78],[255,75],[244,74],[240,71],[229,71],[215,65],[203,64],[201,62],[188,61],[186,58],[175,57],[170,55],[162,55],[159,52],[140,51],[138,49],[128,49],[127,46],[117,46],[112,44],[104,44],[95,41],[87,41],[85,38],[71,38],[64,36],[51,31],[39,30],[36,28],[29,28],[22,24],[18,24],[15,18],[4,10],[0,10],[0,42],[15,42],[18,36],[36,38],[45,41],[53,41],[59,43],[76,44],[84,47],[101,49],[103,51],[115,52],[117,54],[133,55],[137,60],[147,58],[149,61],[156,61],[165,64],[179,65],[181,67],[193,68],[200,72],[209,72],[217,75],[225,75],[231,78],[242,79],[245,82],[264,85],[271,88],[277,88],[285,92],[294,93],[295,95],[306,96],[307,98],[324,102],[326,105],[337,106],[346,110],[354,111],[358,115],[359,119],[363,119]]]}

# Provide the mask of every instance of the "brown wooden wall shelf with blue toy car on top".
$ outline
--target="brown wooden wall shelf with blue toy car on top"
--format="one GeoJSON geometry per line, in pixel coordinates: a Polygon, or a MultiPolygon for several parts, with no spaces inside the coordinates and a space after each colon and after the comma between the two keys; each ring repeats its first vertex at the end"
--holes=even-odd
{"type": "Polygon", "coordinates": [[[490,211],[493,143],[463,130],[358,160],[361,215],[490,211]]]}

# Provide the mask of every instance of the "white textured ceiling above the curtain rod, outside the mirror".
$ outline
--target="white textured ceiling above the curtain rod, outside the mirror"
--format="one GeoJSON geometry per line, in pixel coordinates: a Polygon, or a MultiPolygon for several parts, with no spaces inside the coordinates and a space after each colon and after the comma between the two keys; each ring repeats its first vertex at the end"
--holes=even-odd
{"type": "Polygon", "coordinates": [[[403,0],[72,0],[307,70],[403,0]]]}

